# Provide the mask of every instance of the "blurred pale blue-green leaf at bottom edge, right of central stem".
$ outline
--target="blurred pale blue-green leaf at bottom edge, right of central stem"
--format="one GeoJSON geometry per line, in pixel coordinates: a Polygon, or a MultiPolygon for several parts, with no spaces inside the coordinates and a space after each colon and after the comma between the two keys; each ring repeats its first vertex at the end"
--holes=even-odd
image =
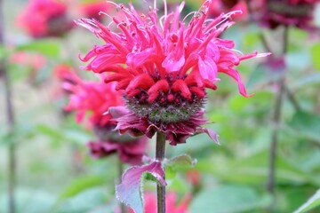
{"type": "Polygon", "coordinates": [[[198,193],[190,204],[189,212],[228,213],[262,209],[271,199],[245,185],[218,185],[198,193]]]}

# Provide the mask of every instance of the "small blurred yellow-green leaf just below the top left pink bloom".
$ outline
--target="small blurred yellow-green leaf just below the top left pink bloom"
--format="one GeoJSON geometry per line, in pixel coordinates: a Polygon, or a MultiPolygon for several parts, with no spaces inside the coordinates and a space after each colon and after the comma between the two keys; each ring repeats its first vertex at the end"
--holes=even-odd
{"type": "Polygon", "coordinates": [[[60,43],[54,40],[35,40],[16,47],[17,51],[36,51],[47,57],[57,58],[60,54],[60,43]]]}

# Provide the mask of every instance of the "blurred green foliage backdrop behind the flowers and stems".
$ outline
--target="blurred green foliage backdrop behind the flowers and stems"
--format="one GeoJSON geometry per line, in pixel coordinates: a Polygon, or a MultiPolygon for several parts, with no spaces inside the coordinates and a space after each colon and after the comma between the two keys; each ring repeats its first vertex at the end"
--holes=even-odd
{"type": "MultiPolygon", "coordinates": [[[[8,146],[16,146],[17,212],[114,212],[117,201],[116,155],[94,160],[86,142],[90,130],[75,122],[74,114],[63,114],[68,100],[60,96],[60,81],[52,74],[55,65],[84,65],[77,52],[101,43],[90,32],[75,27],[63,38],[33,40],[16,27],[16,17],[26,1],[4,1],[5,48],[0,58],[8,61],[15,111],[13,134],[5,122],[4,83],[0,85],[0,212],[7,212],[8,146]],[[17,51],[42,55],[44,65],[14,63],[17,51]]],[[[134,1],[139,5],[139,1],[134,1]]],[[[159,3],[160,4],[160,3],[159,3]]],[[[199,3],[188,1],[188,10],[199,3]]],[[[73,19],[81,14],[72,14],[73,19]]],[[[317,23],[320,12],[316,17],[317,23]]],[[[108,21],[107,21],[108,22],[108,21]]],[[[266,51],[260,34],[279,54],[283,28],[270,31],[250,21],[239,22],[223,37],[236,42],[244,53],[266,51]]],[[[29,59],[27,59],[29,61],[29,59]]],[[[38,61],[39,59],[36,59],[38,61]]],[[[189,212],[292,212],[320,187],[320,40],[299,28],[289,28],[289,51],[284,60],[286,85],[300,105],[297,111],[284,96],[281,122],[274,126],[276,85],[279,74],[263,66],[264,59],[245,61],[237,69],[252,98],[237,92],[236,83],[219,75],[217,91],[208,92],[206,117],[220,135],[220,146],[203,135],[187,144],[167,146],[167,157],[189,154],[193,168],[167,169],[168,191],[182,198],[191,193],[189,212]],[[277,128],[275,193],[268,193],[269,146],[277,128]],[[208,209],[214,209],[210,211],[208,209]]],[[[84,77],[88,74],[80,71],[84,77]]],[[[148,154],[154,156],[154,141],[148,154]]],[[[145,189],[154,190],[146,181],[145,189]]],[[[320,212],[314,209],[311,212],[320,212]]]]}

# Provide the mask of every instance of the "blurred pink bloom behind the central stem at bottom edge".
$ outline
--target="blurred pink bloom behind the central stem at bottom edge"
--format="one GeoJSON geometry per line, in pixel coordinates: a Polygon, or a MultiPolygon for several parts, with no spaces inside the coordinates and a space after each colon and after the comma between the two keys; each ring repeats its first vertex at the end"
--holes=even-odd
{"type": "MultiPolygon", "coordinates": [[[[177,195],[175,193],[167,193],[165,196],[165,212],[166,213],[188,213],[188,203],[190,196],[187,195],[179,204],[177,204],[177,195]]],[[[156,196],[153,193],[145,193],[144,196],[144,212],[156,213],[156,196]]],[[[133,213],[133,210],[130,210],[133,213]]]]}

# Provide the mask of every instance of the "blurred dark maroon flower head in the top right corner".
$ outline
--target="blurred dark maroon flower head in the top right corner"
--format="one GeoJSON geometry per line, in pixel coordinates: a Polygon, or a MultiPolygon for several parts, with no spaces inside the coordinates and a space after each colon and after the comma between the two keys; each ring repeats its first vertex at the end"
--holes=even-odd
{"type": "Polygon", "coordinates": [[[262,23],[268,28],[279,25],[312,29],[313,11],[318,0],[264,0],[262,23]]]}

